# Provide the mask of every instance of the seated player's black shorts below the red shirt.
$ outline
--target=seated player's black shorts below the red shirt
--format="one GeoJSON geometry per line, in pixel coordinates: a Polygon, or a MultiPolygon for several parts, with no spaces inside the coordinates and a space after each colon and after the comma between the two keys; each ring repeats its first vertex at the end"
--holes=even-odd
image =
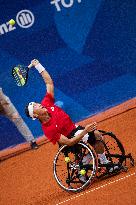
{"type": "MultiPolygon", "coordinates": [[[[75,133],[76,133],[78,130],[83,130],[83,129],[85,129],[85,128],[79,125],[79,126],[76,127],[74,130],[72,130],[72,132],[67,136],[67,138],[74,137],[75,133]]],[[[95,135],[94,135],[94,131],[88,132],[88,135],[89,135],[89,137],[88,137],[88,141],[87,141],[87,142],[88,142],[90,145],[94,145],[94,144],[96,143],[96,138],[95,138],[95,135]]]]}

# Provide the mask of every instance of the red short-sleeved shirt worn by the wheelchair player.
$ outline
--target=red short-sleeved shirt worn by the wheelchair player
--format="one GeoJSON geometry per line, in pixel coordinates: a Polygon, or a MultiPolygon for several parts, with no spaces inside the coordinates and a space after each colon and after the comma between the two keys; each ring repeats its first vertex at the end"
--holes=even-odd
{"type": "Polygon", "coordinates": [[[60,107],[56,106],[51,94],[47,93],[42,100],[42,106],[46,107],[51,118],[48,122],[42,123],[42,130],[45,136],[53,143],[60,139],[61,134],[68,136],[76,128],[69,115],[60,107]]]}

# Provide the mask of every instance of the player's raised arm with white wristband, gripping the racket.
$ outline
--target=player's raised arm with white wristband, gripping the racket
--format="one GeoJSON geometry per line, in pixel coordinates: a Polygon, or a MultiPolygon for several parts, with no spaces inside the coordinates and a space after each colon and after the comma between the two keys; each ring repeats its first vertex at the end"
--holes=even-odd
{"type": "Polygon", "coordinates": [[[54,84],[50,74],[47,70],[39,63],[38,60],[34,59],[31,61],[32,65],[38,70],[38,72],[43,77],[43,80],[46,84],[47,92],[54,97],[54,84]]]}

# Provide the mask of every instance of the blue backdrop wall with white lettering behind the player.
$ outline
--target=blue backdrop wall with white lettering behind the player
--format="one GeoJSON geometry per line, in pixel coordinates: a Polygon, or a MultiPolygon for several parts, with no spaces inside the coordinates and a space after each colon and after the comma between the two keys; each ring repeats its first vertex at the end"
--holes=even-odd
{"type": "MultiPolygon", "coordinates": [[[[40,123],[28,119],[24,107],[40,102],[46,87],[35,69],[28,84],[17,87],[11,76],[16,64],[39,59],[54,80],[57,103],[74,122],[136,96],[136,1],[60,0],[60,11],[51,2],[0,1],[2,32],[18,12],[34,16],[32,26],[16,23],[0,35],[0,86],[35,137],[43,134],[40,123]]],[[[24,142],[8,119],[0,116],[0,122],[0,149],[24,142]]]]}

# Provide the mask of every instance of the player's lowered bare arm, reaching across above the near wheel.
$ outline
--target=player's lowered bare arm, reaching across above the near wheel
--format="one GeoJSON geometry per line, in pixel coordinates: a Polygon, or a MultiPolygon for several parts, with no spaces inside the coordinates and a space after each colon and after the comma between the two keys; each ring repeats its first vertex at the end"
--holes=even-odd
{"type": "Polygon", "coordinates": [[[97,127],[96,122],[91,123],[91,124],[87,125],[85,127],[85,129],[80,134],[78,134],[77,136],[74,136],[73,138],[69,139],[69,138],[65,137],[64,135],[61,135],[58,142],[61,145],[73,146],[74,144],[78,143],[84,137],[85,134],[87,134],[88,132],[92,132],[92,131],[96,130],[96,127],[97,127]]]}

